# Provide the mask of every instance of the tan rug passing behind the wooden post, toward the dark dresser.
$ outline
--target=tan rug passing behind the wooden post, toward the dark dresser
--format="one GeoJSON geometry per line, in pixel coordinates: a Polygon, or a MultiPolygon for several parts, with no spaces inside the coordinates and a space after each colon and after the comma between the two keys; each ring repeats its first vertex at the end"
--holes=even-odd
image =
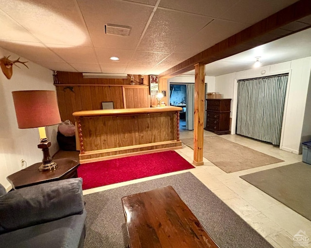
{"type": "MultiPolygon", "coordinates": [[[[193,149],[193,138],[182,139],[181,141],[193,149]]],[[[204,137],[203,142],[203,156],[226,173],[283,162],[283,160],[219,136],[204,137]]]]}

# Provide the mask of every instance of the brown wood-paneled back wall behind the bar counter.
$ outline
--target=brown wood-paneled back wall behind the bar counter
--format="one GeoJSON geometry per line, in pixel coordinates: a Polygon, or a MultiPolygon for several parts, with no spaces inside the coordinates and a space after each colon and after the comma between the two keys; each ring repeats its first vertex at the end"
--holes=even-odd
{"type": "Polygon", "coordinates": [[[87,79],[80,72],[57,71],[54,85],[62,121],[74,123],[73,112],[102,109],[103,101],[113,101],[115,109],[150,107],[149,76],[144,85],[130,85],[131,76],[140,82],[141,75],[127,79],[87,79]]]}

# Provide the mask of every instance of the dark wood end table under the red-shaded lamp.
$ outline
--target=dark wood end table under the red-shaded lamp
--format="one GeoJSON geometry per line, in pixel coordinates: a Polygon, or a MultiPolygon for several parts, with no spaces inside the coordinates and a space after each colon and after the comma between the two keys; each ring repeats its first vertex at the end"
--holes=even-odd
{"type": "Polygon", "coordinates": [[[8,176],[7,180],[13,189],[18,189],[39,183],[78,177],[77,168],[80,165],[78,161],[69,158],[54,159],[54,161],[57,164],[56,170],[39,171],[41,163],[36,163],[8,176]]]}

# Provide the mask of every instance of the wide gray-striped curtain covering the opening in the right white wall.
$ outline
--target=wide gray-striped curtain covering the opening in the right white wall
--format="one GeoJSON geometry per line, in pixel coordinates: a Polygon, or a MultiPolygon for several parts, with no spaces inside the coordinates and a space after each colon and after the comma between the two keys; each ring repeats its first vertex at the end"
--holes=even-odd
{"type": "Polygon", "coordinates": [[[288,74],[238,81],[237,134],[280,144],[288,74]]]}

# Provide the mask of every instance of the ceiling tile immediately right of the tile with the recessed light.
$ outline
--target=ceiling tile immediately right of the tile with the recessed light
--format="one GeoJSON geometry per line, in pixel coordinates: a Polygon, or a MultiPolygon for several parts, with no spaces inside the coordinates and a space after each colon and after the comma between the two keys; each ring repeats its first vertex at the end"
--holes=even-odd
{"type": "Polygon", "coordinates": [[[138,66],[146,68],[152,68],[166,58],[169,54],[167,53],[156,53],[146,51],[136,51],[133,59],[130,61],[128,66],[138,66]]]}

